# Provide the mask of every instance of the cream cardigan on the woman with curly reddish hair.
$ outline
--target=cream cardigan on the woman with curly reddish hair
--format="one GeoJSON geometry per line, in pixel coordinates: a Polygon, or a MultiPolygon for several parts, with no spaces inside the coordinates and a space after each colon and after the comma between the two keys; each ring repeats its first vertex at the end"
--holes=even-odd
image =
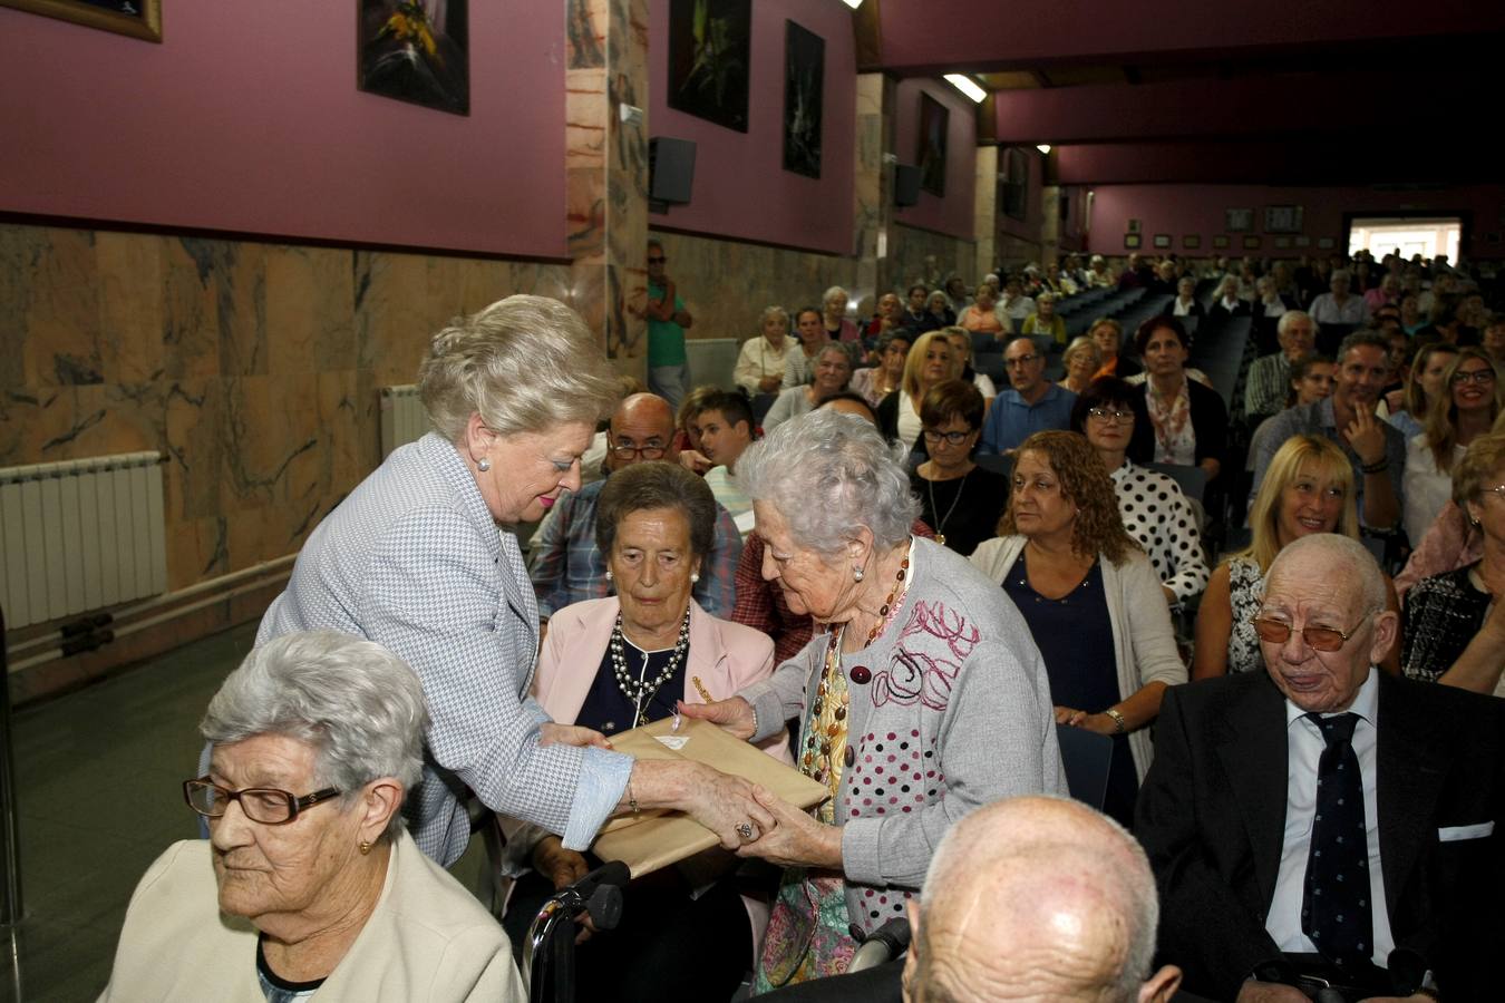
{"type": "MultiPolygon", "coordinates": [[[[995,582],[995,588],[999,588],[1023,549],[1023,537],[995,537],[978,544],[971,561],[995,582]]],[[[1130,550],[1129,558],[1120,565],[1103,561],[1103,594],[1108,598],[1108,620],[1114,629],[1118,698],[1132,696],[1145,683],[1166,686],[1184,683],[1186,663],[1175,650],[1171,608],[1165,601],[1165,592],[1160,591],[1160,579],[1150,565],[1150,558],[1142,550],[1130,550]]],[[[1129,735],[1129,750],[1133,753],[1135,770],[1142,783],[1144,774],[1150,770],[1150,759],[1154,758],[1148,728],[1129,735]]]]}

